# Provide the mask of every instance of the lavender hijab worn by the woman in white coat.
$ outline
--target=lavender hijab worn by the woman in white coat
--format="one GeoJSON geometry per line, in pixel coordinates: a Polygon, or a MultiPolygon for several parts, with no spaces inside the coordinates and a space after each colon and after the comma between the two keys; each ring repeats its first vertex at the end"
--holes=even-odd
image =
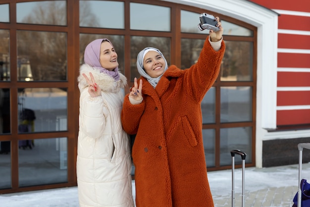
{"type": "Polygon", "coordinates": [[[119,80],[118,67],[113,70],[108,70],[103,68],[100,64],[100,47],[103,40],[108,41],[112,45],[108,39],[97,39],[92,41],[85,48],[84,62],[95,69],[99,69],[100,72],[110,75],[115,80],[119,80]]]}

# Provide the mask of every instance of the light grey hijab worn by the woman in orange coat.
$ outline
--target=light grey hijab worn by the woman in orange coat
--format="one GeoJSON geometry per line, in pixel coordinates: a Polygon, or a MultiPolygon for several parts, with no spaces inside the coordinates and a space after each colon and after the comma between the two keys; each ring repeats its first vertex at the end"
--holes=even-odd
{"type": "Polygon", "coordinates": [[[141,76],[145,77],[149,83],[155,88],[158,81],[160,80],[161,76],[163,75],[163,73],[161,75],[159,75],[158,77],[151,77],[150,75],[148,75],[148,73],[145,71],[144,67],[143,67],[143,59],[144,56],[149,52],[149,51],[155,51],[157,52],[164,60],[165,60],[165,68],[164,71],[165,72],[168,69],[168,64],[167,61],[165,59],[165,57],[163,57],[162,53],[156,49],[156,48],[152,48],[152,47],[147,47],[145,49],[143,49],[142,51],[140,51],[140,53],[138,54],[137,57],[137,68],[138,68],[138,72],[141,76]]]}

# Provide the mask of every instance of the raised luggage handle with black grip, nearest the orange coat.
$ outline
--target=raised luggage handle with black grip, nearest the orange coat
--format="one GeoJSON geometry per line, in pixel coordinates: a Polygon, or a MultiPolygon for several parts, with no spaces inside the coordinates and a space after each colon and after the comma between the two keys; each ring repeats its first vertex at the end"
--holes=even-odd
{"type": "Polygon", "coordinates": [[[235,180],[235,154],[241,155],[242,159],[242,207],[245,205],[245,193],[244,193],[244,171],[245,171],[245,166],[246,166],[246,153],[241,151],[240,149],[234,149],[230,151],[231,154],[231,160],[232,160],[232,168],[231,168],[231,174],[232,174],[232,189],[231,189],[231,206],[235,206],[235,185],[234,185],[234,180],[235,180]]]}

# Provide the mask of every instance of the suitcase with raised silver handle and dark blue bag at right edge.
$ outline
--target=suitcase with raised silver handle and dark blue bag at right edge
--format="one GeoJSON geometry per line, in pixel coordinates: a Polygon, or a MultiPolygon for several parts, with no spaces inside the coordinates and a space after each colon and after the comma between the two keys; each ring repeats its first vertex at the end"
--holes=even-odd
{"type": "Polygon", "coordinates": [[[310,184],[302,179],[303,149],[310,149],[310,143],[299,143],[298,191],[293,199],[293,207],[310,207],[310,184]]]}

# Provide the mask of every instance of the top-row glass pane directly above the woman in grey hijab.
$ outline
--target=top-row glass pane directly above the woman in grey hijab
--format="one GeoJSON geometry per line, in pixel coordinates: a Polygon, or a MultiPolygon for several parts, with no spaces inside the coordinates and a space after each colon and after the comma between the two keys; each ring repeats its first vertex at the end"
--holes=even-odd
{"type": "Polygon", "coordinates": [[[170,31],[170,8],[130,3],[130,29],[170,31]]]}

